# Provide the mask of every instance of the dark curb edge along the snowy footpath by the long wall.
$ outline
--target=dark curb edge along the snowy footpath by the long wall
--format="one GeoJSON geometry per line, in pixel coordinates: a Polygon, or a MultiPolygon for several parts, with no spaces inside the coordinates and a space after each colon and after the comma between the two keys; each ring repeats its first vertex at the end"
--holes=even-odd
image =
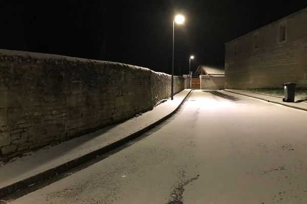
{"type": "Polygon", "coordinates": [[[16,182],[14,184],[11,184],[9,186],[3,187],[0,189],[0,199],[9,196],[10,194],[13,194],[21,189],[25,189],[29,186],[32,186],[36,183],[45,181],[47,179],[50,179],[51,177],[63,173],[65,171],[68,171],[76,166],[79,166],[87,161],[90,161],[92,159],[95,159],[97,156],[103,155],[108,151],[114,150],[122,145],[124,145],[125,143],[138,138],[139,136],[143,135],[144,133],[148,132],[149,130],[153,129],[153,127],[159,125],[160,123],[162,123],[163,121],[165,121],[166,119],[168,119],[170,116],[172,116],[174,113],[176,113],[178,111],[178,109],[182,106],[182,104],[184,103],[184,101],[186,100],[186,98],[188,97],[188,95],[191,93],[192,90],[190,90],[188,92],[188,94],[184,97],[184,99],[181,101],[181,103],[179,104],[179,106],[173,110],[170,114],[164,116],[163,118],[157,120],[156,122],[149,124],[148,126],[144,127],[143,129],[128,135],[125,138],[122,138],[116,142],[113,142],[111,144],[108,144],[104,147],[101,147],[97,150],[94,150],[86,155],[80,156],[76,159],[73,159],[69,162],[66,162],[64,164],[61,164],[59,166],[56,166],[54,168],[51,168],[49,170],[43,171],[41,173],[38,173],[34,176],[31,176],[27,179],[24,179],[22,181],[16,182]]]}

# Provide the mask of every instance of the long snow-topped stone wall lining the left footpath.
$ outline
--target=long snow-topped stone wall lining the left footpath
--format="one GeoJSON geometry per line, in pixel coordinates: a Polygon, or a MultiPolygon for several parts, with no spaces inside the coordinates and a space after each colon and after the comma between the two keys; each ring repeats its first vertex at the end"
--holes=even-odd
{"type": "MultiPolygon", "coordinates": [[[[170,97],[170,80],[143,67],[0,49],[0,161],[146,112],[170,97]]],[[[174,93],[184,84],[174,77],[174,93]]]]}

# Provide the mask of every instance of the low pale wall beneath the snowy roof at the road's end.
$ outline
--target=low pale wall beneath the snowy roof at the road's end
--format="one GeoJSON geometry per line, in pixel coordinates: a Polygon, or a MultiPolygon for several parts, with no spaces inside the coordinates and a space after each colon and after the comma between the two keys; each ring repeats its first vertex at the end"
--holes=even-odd
{"type": "Polygon", "coordinates": [[[224,89],[225,77],[209,77],[200,75],[201,89],[224,89]]]}

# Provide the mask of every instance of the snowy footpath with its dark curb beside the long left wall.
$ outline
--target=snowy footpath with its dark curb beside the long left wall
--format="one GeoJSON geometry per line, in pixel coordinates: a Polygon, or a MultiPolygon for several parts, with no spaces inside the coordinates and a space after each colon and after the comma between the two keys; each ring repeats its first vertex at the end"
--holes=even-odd
{"type": "Polygon", "coordinates": [[[59,173],[81,165],[133,140],[173,115],[191,89],[174,95],[173,100],[122,123],[107,126],[57,145],[47,146],[0,164],[0,200],[59,173]]]}

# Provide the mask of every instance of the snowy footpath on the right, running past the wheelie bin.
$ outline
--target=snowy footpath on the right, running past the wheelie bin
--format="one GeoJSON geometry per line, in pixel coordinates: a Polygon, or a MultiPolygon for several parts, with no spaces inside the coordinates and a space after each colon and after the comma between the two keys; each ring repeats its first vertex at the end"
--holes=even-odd
{"type": "Polygon", "coordinates": [[[270,96],[266,94],[260,94],[260,93],[254,93],[250,91],[243,91],[243,90],[234,90],[234,89],[225,89],[225,91],[231,92],[231,93],[237,93],[240,95],[245,95],[253,98],[257,98],[260,100],[266,100],[268,102],[274,103],[274,104],[279,104],[282,106],[287,106],[290,108],[295,108],[303,111],[307,111],[307,101],[301,101],[297,102],[295,101],[294,103],[289,103],[289,102],[283,102],[282,98],[276,97],[276,96],[270,96]]]}

